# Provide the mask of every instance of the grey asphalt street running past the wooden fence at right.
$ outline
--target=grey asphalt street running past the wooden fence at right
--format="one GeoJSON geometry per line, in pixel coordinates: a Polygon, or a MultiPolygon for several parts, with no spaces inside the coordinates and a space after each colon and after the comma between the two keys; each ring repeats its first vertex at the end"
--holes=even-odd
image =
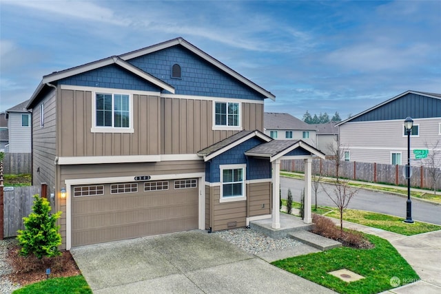
{"type": "MultiPolygon", "coordinates": [[[[291,189],[293,200],[300,202],[300,194],[303,187],[305,187],[305,182],[304,180],[280,177],[280,187],[282,189],[282,198],[287,198],[289,188],[291,189]]],[[[331,185],[320,184],[317,194],[318,205],[335,207],[336,205],[329,199],[326,193],[323,192],[323,188],[327,189],[327,191],[331,191],[332,187],[331,185]]],[[[312,204],[315,204],[314,190],[312,191],[311,198],[312,204]]],[[[356,196],[353,196],[351,202],[349,202],[348,208],[387,213],[406,218],[406,201],[407,198],[405,197],[359,189],[356,196]]],[[[420,220],[422,222],[441,224],[441,205],[422,202],[412,198],[412,218],[413,220],[420,220]]]]}

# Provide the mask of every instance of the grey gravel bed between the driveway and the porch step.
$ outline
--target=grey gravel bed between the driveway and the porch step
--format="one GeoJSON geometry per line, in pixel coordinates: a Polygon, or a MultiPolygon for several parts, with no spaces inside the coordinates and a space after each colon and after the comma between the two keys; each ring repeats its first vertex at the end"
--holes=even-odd
{"type": "Polygon", "coordinates": [[[292,238],[274,239],[253,229],[245,228],[218,231],[213,234],[251,254],[287,249],[302,244],[292,238]]]}

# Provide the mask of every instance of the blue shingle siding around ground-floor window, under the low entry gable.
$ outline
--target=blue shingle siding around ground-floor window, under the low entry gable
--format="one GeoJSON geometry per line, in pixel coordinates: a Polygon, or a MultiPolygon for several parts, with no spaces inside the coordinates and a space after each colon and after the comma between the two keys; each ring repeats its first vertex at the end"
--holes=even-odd
{"type": "Polygon", "coordinates": [[[240,164],[248,164],[246,180],[255,180],[257,178],[271,178],[271,165],[269,165],[269,160],[267,160],[267,171],[265,171],[265,164],[263,162],[258,162],[258,160],[253,160],[252,162],[249,162],[249,158],[245,156],[245,151],[252,149],[252,147],[255,147],[259,144],[262,144],[262,141],[260,139],[251,138],[244,143],[237,145],[236,147],[233,147],[228,151],[225,151],[223,154],[212,158],[212,160],[210,160],[210,165],[205,164],[205,180],[207,180],[207,182],[220,182],[219,165],[240,164]],[[209,169],[211,169],[211,175],[209,175],[209,169]]]}

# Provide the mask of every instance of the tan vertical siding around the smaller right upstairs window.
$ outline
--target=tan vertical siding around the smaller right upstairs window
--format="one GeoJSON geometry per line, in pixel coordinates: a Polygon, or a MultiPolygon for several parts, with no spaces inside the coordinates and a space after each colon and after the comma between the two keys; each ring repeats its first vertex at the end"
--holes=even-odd
{"type": "MultiPolygon", "coordinates": [[[[214,131],[213,101],[161,98],[161,154],[196,154],[238,131],[214,131]]],[[[263,104],[241,103],[243,129],[263,130],[263,104]]]]}

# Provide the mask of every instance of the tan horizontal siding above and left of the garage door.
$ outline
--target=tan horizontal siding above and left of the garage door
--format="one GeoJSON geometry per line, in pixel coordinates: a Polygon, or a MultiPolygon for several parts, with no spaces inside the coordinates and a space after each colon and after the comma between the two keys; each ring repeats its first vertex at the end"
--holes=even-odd
{"type": "MultiPolygon", "coordinates": [[[[205,172],[203,160],[142,162],[142,163],[118,163],[101,165],[58,165],[59,187],[65,187],[65,180],[90,179],[90,178],[119,178],[134,176],[154,176],[170,174],[193,174],[205,172]]],[[[185,178],[185,176],[183,176],[185,178]]],[[[117,181],[118,182],[118,181],[117,181]]],[[[99,184],[97,180],[96,184],[99,184]]],[[[80,184],[79,184],[80,185],[80,184]]],[[[65,249],[66,237],[66,200],[59,199],[58,210],[62,211],[59,224],[61,224],[61,238],[65,249]]]]}

